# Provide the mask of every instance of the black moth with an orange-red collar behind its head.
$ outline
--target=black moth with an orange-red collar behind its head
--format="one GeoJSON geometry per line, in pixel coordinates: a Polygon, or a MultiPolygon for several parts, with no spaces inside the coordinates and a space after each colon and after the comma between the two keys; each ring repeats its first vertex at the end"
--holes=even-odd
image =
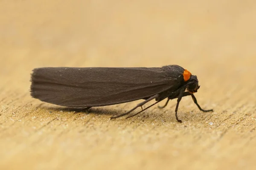
{"type": "Polygon", "coordinates": [[[164,108],[170,99],[177,98],[175,116],[181,122],[177,110],[184,96],[192,96],[201,111],[212,111],[203,110],[194,96],[200,87],[197,77],[178,65],[161,68],[35,68],[31,82],[32,97],[68,107],[90,108],[145,99],[130,111],[111,119],[142,108],[153,99],[156,102],[142,111],[167,98],[166,104],[159,107],[164,108]]]}

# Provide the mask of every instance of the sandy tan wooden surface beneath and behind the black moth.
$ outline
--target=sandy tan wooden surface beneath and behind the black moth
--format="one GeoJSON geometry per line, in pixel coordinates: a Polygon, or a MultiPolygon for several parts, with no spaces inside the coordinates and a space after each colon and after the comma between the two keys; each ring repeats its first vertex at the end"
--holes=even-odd
{"type": "Polygon", "coordinates": [[[255,30],[253,0],[1,1],[0,169],[256,169],[255,30]],[[110,120],[140,101],[86,113],[29,95],[37,67],[170,64],[214,112],[185,97],[181,124],[176,100],[110,120]]]}

